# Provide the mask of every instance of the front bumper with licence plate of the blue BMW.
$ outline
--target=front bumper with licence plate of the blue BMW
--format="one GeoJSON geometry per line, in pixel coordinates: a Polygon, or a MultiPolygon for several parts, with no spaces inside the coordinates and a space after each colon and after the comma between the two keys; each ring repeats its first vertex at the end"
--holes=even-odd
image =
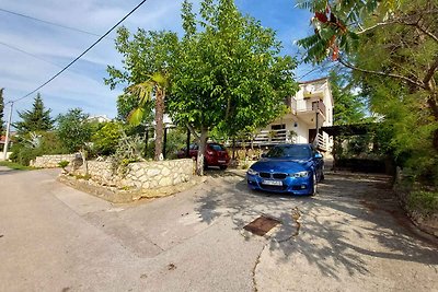
{"type": "Polygon", "coordinates": [[[249,188],[273,192],[289,192],[293,195],[310,195],[313,192],[313,176],[286,177],[285,179],[262,178],[246,173],[249,188]],[[269,184],[270,183],[270,184],[269,184]],[[274,185],[275,184],[275,185],[274,185]]]}

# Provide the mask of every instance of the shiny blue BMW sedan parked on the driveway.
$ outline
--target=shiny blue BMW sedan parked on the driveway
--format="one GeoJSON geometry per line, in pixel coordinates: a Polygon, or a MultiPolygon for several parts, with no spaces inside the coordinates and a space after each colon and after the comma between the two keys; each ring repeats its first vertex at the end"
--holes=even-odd
{"type": "Polygon", "coordinates": [[[324,179],[323,168],[312,144],[280,144],[247,170],[246,180],[251,189],[313,196],[316,182],[324,179]]]}

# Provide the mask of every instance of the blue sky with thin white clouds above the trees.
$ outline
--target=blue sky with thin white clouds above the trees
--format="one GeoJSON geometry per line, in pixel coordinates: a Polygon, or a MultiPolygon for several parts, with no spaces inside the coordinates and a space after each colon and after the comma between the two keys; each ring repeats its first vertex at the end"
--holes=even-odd
{"type": "MultiPolygon", "coordinates": [[[[20,98],[32,92],[64,66],[69,63],[97,39],[62,27],[19,16],[4,10],[25,14],[47,22],[76,27],[103,35],[127,14],[140,0],[0,0],[0,87],[4,100],[20,98]]],[[[193,1],[198,3],[199,1],[193,1]]],[[[172,30],[181,32],[180,8],[182,0],[149,0],[124,22],[130,31],[172,30]]],[[[283,42],[283,54],[295,56],[297,40],[310,33],[310,14],[295,8],[293,0],[237,0],[239,9],[260,20],[264,26],[277,32],[283,42]]],[[[101,42],[68,71],[39,90],[46,107],[53,116],[69,108],[81,107],[91,115],[116,116],[116,97],[119,90],[111,91],[103,83],[106,66],[120,63],[114,48],[114,37],[101,42]]],[[[310,68],[300,66],[296,75],[302,77],[310,68]]],[[[320,77],[314,72],[304,79],[320,77]]],[[[16,110],[30,109],[36,93],[14,105],[16,110]]],[[[7,119],[7,108],[4,110],[7,119]]]]}

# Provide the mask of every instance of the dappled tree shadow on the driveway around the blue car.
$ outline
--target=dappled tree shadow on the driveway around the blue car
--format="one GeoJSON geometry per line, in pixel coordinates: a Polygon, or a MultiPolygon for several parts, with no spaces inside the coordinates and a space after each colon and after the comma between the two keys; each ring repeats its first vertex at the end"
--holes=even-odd
{"type": "Polygon", "coordinates": [[[302,255],[335,279],[342,269],[369,273],[372,258],[438,264],[436,242],[415,232],[387,176],[327,175],[315,197],[297,197],[251,191],[242,172],[207,175],[209,191],[197,198],[195,210],[201,220],[229,217],[242,232],[261,214],[278,219],[281,225],[267,245],[284,254],[279,261],[302,255]]]}

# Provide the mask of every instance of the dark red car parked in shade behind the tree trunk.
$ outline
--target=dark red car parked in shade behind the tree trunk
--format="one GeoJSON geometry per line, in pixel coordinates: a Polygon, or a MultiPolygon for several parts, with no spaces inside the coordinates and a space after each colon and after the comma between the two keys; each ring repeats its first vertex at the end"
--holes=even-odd
{"type": "MultiPolygon", "coordinates": [[[[182,149],[177,153],[178,159],[183,159],[186,156],[186,150],[182,149]]],[[[197,159],[198,156],[198,145],[191,144],[188,149],[188,156],[197,159]]],[[[219,166],[221,170],[227,170],[228,164],[230,163],[230,155],[228,154],[227,149],[219,143],[207,143],[206,150],[204,153],[204,167],[208,166],[219,166]]]]}

